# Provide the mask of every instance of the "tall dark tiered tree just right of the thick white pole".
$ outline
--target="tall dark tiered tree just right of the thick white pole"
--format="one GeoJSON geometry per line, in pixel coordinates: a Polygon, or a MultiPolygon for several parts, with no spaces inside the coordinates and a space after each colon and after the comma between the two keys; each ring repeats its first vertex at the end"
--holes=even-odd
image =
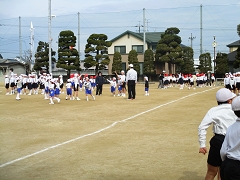
{"type": "Polygon", "coordinates": [[[76,36],[70,30],[61,31],[58,38],[58,62],[57,67],[67,70],[67,77],[70,77],[71,70],[80,71],[79,53],[74,48],[76,36]]]}

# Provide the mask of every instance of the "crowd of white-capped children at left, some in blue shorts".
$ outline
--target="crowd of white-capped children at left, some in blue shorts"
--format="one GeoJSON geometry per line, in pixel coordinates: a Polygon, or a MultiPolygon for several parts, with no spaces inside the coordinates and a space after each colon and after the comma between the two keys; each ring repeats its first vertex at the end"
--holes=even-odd
{"type": "MultiPolygon", "coordinates": [[[[60,102],[59,95],[64,93],[64,82],[63,77],[60,75],[58,78],[53,78],[51,74],[43,73],[38,76],[36,74],[17,74],[13,73],[11,70],[10,75],[5,75],[5,88],[6,95],[16,94],[16,100],[20,100],[20,95],[33,95],[41,94],[44,95],[44,99],[49,99],[49,104],[54,104],[53,100],[60,102]],[[28,93],[27,93],[28,91],[28,93]]],[[[80,100],[78,97],[78,91],[84,88],[86,94],[86,100],[88,101],[88,96],[92,95],[92,90],[95,87],[94,78],[89,79],[88,77],[81,78],[81,75],[74,74],[73,77],[67,80],[66,83],[66,100],[80,100]]]]}

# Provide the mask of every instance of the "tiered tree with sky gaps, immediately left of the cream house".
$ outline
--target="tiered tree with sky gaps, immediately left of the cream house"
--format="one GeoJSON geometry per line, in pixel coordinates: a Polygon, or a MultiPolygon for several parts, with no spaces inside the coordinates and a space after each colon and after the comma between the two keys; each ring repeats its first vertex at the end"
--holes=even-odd
{"type": "Polygon", "coordinates": [[[110,62],[107,49],[112,45],[112,42],[107,41],[107,39],[105,34],[92,34],[87,39],[84,67],[95,66],[96,74],[98,70],[105,69],[110,62]]]}

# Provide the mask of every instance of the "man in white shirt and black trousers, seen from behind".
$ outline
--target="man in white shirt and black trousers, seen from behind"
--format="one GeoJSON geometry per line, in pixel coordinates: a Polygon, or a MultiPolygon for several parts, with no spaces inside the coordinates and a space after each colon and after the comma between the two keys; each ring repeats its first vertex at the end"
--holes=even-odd
{"type": "Polygon", "coordinates": [[[136,96],[137,71],[133,69],[133,64],[129,64],[129,68],[126,76],[128,100],[133,100],[136,96]]]}

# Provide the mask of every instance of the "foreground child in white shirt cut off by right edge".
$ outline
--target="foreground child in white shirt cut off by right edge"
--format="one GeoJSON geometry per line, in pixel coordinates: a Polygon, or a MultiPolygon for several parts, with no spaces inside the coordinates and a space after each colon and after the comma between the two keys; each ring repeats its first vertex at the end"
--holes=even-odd
{"type": "Polygon", "coordinates": [[[220,150],[223,160],[221,165],[222,180],[240,179],[240,96],[232,101],[232,110],[237,121],[228,130],[220,150]]]}

